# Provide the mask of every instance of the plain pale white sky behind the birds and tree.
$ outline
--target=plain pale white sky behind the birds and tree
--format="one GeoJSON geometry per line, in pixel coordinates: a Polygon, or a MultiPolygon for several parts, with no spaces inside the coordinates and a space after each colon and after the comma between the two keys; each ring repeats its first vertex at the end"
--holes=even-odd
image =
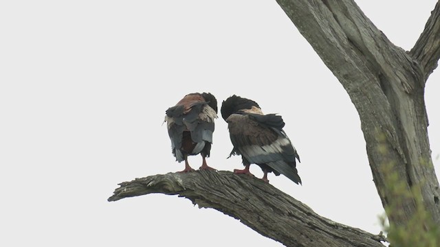
{"type": "MultiPolygon", "coordinates": [[[[436,1],[356,2],[408,50],[436,1]]],[[[162,121],[203,91],[283,116],[303,186],[270,174],[272,185],[380,232],[358,113],[276,1],[2,1],[0,36],[0,246],[282,246],[177,196],[107,202],[122,181],[184,168],[162,121]]],[[[426,86],[437,171],[439,78],[426,86]]],[[[241,168],[216,124],[208,165],[241,168]]]]}

